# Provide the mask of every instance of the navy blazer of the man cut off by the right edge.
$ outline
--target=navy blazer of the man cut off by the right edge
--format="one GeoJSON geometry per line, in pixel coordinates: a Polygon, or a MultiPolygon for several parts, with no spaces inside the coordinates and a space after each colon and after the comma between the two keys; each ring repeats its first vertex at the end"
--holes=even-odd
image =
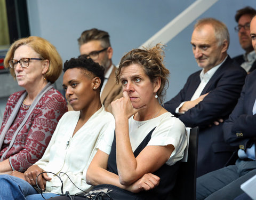
{"type": "Polygon", "coordinates": [[[245,79],[241,97],[228,120],[223,124],[224,139],[240,149],[251,147],[256,141],[256,114],[252,109],[256,99],[256,70],[245,79]]]}

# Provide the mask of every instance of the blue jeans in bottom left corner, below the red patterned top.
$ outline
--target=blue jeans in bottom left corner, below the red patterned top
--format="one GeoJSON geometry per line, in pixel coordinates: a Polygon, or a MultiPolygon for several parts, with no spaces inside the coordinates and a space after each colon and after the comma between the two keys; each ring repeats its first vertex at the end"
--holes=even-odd
{"type": "Polygon", "coordinates": [[[53,193],[44,193],[43,198],[27,181],[12,175],[0,175],[0,186],[0,199],[44,200],[44,198],[59,196],[53,193]]]}

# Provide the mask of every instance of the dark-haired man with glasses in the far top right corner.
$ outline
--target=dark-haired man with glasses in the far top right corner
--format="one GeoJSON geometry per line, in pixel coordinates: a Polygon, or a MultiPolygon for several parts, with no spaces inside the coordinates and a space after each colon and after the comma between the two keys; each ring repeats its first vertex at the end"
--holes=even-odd
{"type": "Polygon", "coordinates": [[[247,6],[236,11],[235,15],[235,20],[238,23],[235,30],[238,33],[239,43],[244,49],[245,54],[238,55],[233,59],[236,60],[247,73],[250,73],[256,69],[256,53],[253,51],[250,37],[250,22],[255,14],[256,10],[250,6],[247,6]]]}

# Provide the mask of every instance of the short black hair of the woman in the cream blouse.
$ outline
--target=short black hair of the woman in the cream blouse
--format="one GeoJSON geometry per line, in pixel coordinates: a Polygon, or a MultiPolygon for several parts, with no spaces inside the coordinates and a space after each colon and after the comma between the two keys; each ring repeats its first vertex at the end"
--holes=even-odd
{"type": "Polygon", "coordinates": [[[86,71],[89,71],[93,74],[94,77],[100,78],[100,90],[103,85],[104,71],[105,69],[99,65],[99,63],[94,62],[91,58],[87,58],[86,55],[79,55],[78,58],[71,58],[70,60],[66,60],[64,63],[63,71],[67,71],[68,69],[79,68],[86,71]]]}

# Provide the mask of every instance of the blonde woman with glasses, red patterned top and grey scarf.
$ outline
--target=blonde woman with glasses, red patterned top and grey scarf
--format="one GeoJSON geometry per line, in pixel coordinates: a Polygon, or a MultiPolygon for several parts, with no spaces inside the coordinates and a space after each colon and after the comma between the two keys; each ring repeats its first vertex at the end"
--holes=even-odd
{"type": "Polygon", "coordinates": [[[0,129],[0,174],[19,177],[42,157],[61,116],[65,98],[53,88],[62,60],[41,37],[15,41],[4,59],[5,68],[25,90],[12,94],[0,129]]]}

